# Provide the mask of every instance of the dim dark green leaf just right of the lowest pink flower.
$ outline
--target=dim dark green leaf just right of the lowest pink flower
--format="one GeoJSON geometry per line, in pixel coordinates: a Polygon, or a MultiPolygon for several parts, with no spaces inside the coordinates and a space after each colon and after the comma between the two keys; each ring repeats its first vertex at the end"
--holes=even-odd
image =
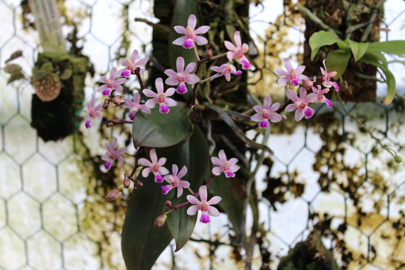
{"type": "Polygon", "coordinates": [[[209,186],[215,196],[222,198],[219,206],[228,215],[229,221],[236,234],[239,234],[244,209],[245,191],[236,177],[226,178],[224,174],[214,178],[209,186]]]}

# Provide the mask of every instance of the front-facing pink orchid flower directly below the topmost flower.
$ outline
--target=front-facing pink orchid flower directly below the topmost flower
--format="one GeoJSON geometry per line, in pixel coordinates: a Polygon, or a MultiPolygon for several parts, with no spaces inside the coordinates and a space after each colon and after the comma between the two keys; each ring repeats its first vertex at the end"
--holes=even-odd
{"type": "Polygon", "coordinates": [[[165,70],[165,74],[169,76],[169,78],[166,79],[165,84],[173,86],[179,85],[176,89],[176,92],[179,94],[184,94],[187,92],[185,83],[192,85],[199,82],[199,78],[197,75],[190,74],[190,72],[193,71],[195,67],[195,63],[194,62],[189,63],[186,66],[186,69],[184,69],[184,58],[177,57],[176,67],[177,72],[174,71],[173,69],[165,70]]]}

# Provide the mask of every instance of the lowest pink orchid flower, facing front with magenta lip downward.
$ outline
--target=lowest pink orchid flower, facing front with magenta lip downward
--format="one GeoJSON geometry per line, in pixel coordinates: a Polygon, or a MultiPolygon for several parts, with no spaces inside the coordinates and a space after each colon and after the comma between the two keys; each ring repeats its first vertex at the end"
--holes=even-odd
{"type": "Polygon", "coordinates": [[[201,218],[199,219],[199,221],[203,223],[211,222],[211,219],[208,215],[213,217],[219,216],[219,211],[211,205],[219,203],[222,200],[221,197],[215,196],[207,202],[207,186],[202,185],[199,187],[199,198],[201,199],[201,201],[192,195],[187,195],[187,201],[189,201],[191,204],[195,204],[187,209],[187,215],[195,215],[198,210],[201,210],[201,218]]]}

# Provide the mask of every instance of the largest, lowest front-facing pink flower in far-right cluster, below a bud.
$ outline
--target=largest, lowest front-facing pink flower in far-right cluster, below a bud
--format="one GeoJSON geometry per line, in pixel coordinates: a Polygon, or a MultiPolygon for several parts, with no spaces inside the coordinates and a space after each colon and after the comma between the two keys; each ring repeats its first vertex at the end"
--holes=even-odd
{"type": "Polygon", "coordinates": [[[288,98],[290,98],[294,104],[290,104],[286,107],[286,111],[293,111],[295,109],[295,121],[300,121],[304,116],[306,119],[312,117],[314,110],[308,107],[308,103],[315,102],[316,94],[310,93],[307,95],[307,90],[303,87],[300,89],[300,97],[291,90],[287,89],[286,94],[288,98]]]}

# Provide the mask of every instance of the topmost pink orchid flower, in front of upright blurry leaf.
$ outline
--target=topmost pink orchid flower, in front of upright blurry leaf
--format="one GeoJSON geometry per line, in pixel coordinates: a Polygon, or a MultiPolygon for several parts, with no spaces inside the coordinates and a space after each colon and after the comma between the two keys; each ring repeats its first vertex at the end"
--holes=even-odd
{"type": "Polygon", "coordinates": [[[205,34],[210,30],[210,26],[200,26],[194,30],[195,25],[197,24],[197,18],[195,15],[191,14],[188,17],[187,27],[177,25],[174,27],[174,30],[179,34],[185,34],[185,36],[177,38],[173,44],[183,46],[185,49],[191,49],[194,47],[194,42],[197,45],[208,44],[207,38],[203,36],[198,36],[197,34],[205,34]]]}

